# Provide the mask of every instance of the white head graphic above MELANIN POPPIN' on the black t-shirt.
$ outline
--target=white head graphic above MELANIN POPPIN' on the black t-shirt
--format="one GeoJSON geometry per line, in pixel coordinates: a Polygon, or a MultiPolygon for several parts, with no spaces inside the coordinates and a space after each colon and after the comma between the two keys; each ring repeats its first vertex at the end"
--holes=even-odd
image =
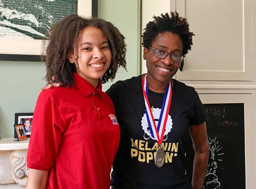
{"type": "MultiPolygon", "coordinates": [[[[161,109],[160,108],[153,108],[153,116],[154,116],[154,121],[156,122],[156,125],[158,124],[159,116],[160,116],[161,109]]],[[[163,121],[164,118],[162,118],[163,121]]],[[[149,126],[148,126],[148,120],[146,113],[143,114],[143,117],[141,119],[141,126],[142,129],[144,130],[145,134],[143,135],[145,140],[148,140],[149,138],[153,140],[157,140],[157,136],[151,137],[149,126]]],[[[153,125],[152,125],[153,126],[153,125]]],[[[168,115],[168,119],[166,122],[166,129],[164,131],[164,136],[163,136],[163,141],[167,140],[167,134],[171,131],[172,129],[172,118],[170,115],[168,115]]]]}

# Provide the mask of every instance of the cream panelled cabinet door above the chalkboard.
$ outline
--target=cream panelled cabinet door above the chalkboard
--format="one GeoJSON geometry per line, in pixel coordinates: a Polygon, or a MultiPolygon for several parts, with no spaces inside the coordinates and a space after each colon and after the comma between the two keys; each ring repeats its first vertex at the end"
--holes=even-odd
{"type": "Polygon", "coordinates": [[[177,0],[194,32],[178,80],[252,81],[252,0],[177,0]]]}

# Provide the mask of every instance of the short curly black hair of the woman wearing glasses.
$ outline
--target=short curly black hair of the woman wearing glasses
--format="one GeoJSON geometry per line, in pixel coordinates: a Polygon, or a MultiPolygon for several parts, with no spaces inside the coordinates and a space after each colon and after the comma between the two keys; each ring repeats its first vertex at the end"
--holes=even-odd
{"type": "Polygon", "coordinates": [[[161,16],[154,16],[154,20],[147,23],[142,38],[143,47],[150,47],[159,33],[172,32],[177,34],[182,41],[182,54],[186,55],[188,50],[191,50],[193,32],[189,32],[189,24],[186,18],[179,17],[177,12],[171,12],[171,17],[168,13],[161,16]]]}

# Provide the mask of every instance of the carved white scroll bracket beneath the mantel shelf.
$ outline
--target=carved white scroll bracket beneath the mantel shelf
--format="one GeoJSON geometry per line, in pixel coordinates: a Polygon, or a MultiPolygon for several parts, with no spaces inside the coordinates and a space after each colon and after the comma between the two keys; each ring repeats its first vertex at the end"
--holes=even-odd
{"type": "Polygon", "coordinates": [[[26,166],[27,150],[14,150],[10,152],[12,163],[12,178],[19,186],[25,187],[28,181],[29,169],[26,166]]]}

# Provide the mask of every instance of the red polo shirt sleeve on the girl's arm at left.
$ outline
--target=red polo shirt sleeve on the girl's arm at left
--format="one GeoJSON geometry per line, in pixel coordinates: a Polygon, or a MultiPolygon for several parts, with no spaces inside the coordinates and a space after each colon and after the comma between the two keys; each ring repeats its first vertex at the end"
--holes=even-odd
{"type": "Polygon", "coordinates": [[[55,162],[64,121],[52,96],[41,92],[32,119],[27,167],[48,171],[55,162]]]}

